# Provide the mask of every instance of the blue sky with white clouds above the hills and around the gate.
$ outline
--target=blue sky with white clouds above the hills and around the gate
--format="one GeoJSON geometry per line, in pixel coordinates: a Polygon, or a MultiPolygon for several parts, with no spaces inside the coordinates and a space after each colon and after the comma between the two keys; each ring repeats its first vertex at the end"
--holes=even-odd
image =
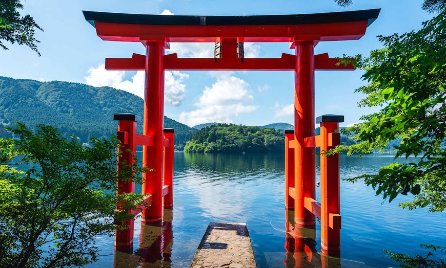
{"type": "MultiPolygon", "coordinates": [[[[368,55],[381,47],[377,35],[420,29],[432,17],[421,10],[421,0],[353,0],[349,8],[333,0],[211,1],[211,0],[28,0],[22,14],[31,14],[44,32],[36,37],[41,57],[27,47],[7,44],[0,50],[0,76],[39,81],[69,81],[108,85],[143,96],[144,73],[106,71],[105,58],[145,54],[141,43],[103,41],[87,23],[82,10],[175,15],[273,15],[337,12],[381,8],[366,35],[355,41],[319,42],[315,54],[331,57],[368,55]]],[[[212,57],[213,43],[171,43],[168,53],[180,57],[212,57]]],[[[246,43],[245,57],[280,57],[294,54],[289,43],[246,43]]],[[[371,109],[358,108],[363,85],[360,71],[316,71],[316,116],[344,115],[341,126],[359,121],[371,109]]],[[[193,126],[205,122],[266,125],[293,124],[293,72],[166,72],[165,115],[193,126]]],[[[142,116],[142,115],[141,115],[142,116]]]]}

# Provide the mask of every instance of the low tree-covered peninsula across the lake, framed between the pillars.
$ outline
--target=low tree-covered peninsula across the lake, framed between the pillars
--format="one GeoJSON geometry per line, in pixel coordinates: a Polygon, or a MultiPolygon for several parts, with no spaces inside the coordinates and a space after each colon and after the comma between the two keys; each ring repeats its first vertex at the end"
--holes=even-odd
{"type": "Polygon", "coordinates": [[[258,126],[218,124],[194,133],[186,152],[283,152],[283,131],[258,126]]]}

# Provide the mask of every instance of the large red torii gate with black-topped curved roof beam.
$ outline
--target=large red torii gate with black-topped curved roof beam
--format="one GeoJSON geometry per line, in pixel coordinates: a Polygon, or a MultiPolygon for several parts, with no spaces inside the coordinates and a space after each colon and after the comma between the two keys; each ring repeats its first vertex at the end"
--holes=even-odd
{"type": "MultiPolygon", "coordinates": [[[[294,208],[297,227],[313,228],[314,215],[318,214],[317,207],[321,206],[314,200],[314,147],[325,149],[333,145],[328,142],[333,139],[328,133],[337,129],[337,123],[334,126],[326,123],[327,127],[323,128],[325,132],[321,132],[326,138],[315,137],[314,71],[353,70],[351,65],[336,65],[338,60],[330,58],[327,53],[314,55],[314,46],[319,41],[361,38],[378,17],[379,11],[372,9],[265,16],[166,16],[83,11],[85,19],[96,28],[101,39],[141,42],[146,47],[146,55],[133,54],[128,59],[107,58],[105,63],[107,70],[146,72],[144,136],[148,136],[151,146],[144,146],[143,165],[154,171],[144,174],[146,183],[143,185],[143,193],[151,193],[153,203],[150,209],[143,211],[143,224],[160,221],[163,216],[164,71],[256,70],[295,71],[295,130],[288,133],[286,138],[286,207],[294,208]],[[221,58],[178,58],[176,54],[165,55],[170,42],[221,42],[221,58]],[[294,49],[295,54],[282,53],[280,58],[238,58],[238,42],[290,42],[290,49],[294,49]],[[290,163],[290,159],[293,163],[290,163]]],[[[335,119],[327,120],[332,122],[335,119]]],[[[320,122],[327,121],[322,118],[320,122]]],[[[337,168],[334,165],[330,172],[339,180],[338,162],[337,168]]],[[[321,180],[321,191],[327,192],[325,180],[321,180]]],[[[334,203],[339,203],[339,190],[335,198],[337,200],[334,203]]],[[[322,209],[324,206],[322,200],[322,209]]],[[[330,242],[328,235],[322,237],[322,254],[339,255],[340,216],[336,216],[339,209],[331,210],[330,213],[332,215],[322,213],[325,216],[321,215],[321,220],[324,221],[322,228],[331,231],[323,230],[321,233],[322,236],[327,232],[335,232],[337,235],[330,242]]]]}

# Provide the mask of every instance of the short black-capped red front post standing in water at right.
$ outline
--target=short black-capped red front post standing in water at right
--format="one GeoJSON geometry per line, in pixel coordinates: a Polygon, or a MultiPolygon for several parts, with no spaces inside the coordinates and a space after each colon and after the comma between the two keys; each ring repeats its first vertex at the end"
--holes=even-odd
{"type": "MultiPolygon", "coordinates": [[[[325,115],[320,123],[320,151],[339,145],[339,123],[343,116],[325,115]]],[[[322,255],[340,256],[339,154],[320,155],[320,251],[322,255]]]]}

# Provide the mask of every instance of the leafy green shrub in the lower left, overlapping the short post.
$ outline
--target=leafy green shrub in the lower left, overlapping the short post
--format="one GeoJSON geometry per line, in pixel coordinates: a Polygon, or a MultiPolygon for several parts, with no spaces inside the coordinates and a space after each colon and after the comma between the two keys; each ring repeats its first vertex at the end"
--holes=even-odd
{"type": "Polygon", "coordinates": [[[33,133],[18,124],[12,131],[21,139],[0,139],[0,267],[96,261],[95,237],[127,228],[115,222],[133,218],[125,209],[147,197],[116,196],[118,176],[140,183],[144,169],[135,162],[116,175],[116,140],[93,138],[83,146],[50,126],[33,133]]]}

